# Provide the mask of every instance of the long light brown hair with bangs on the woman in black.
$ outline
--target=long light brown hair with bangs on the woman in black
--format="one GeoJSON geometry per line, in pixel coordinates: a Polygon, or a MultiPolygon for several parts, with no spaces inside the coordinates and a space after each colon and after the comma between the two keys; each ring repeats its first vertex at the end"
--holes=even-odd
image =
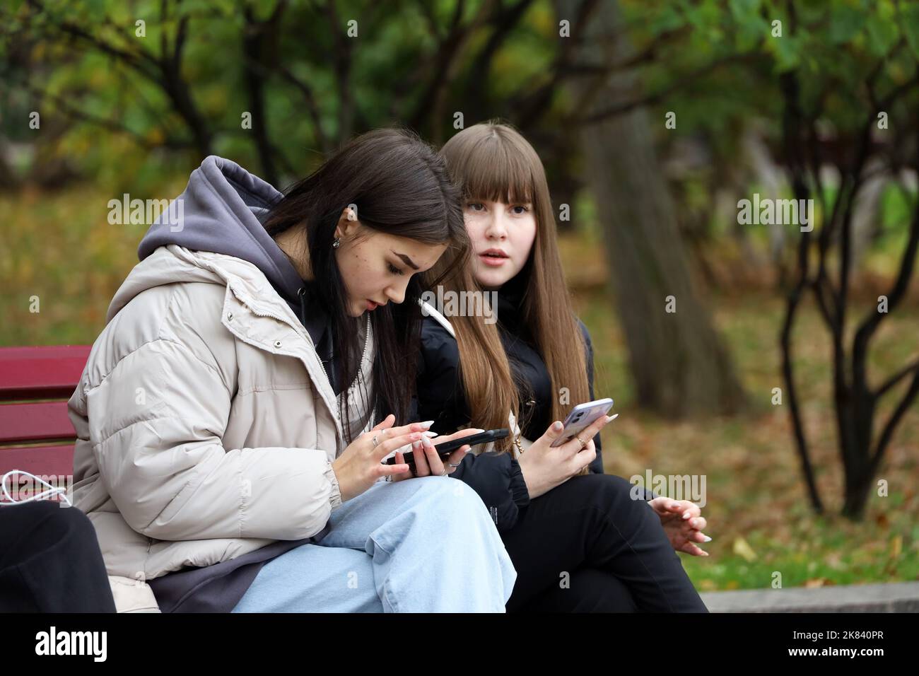
{"type": "MultiPolygon", "coordinates": [[[[562,271],[557,228],[549,185],[539,155],[513,127],[497,120],[476,124],[454,135],[441,149],[451,178],[466,201],[531,203],[536,238],[523,276],[526,289],[521,308],[524,324],[545,361],[552,388],[551,416],[562,420],[575,404],[590,398],[584,336],[574,315],[562,271]],[[562,403],[562,388],[567,397],[562,403]]],[[[482,291],[473,276],[471,259],[442,257],[445,291],[482,291]],[[445,259],[446,258],[446,259],[445,259]]],[[[432,270],[433,271],[433,270],[432,270]]],[[[496,308],[494,308],[496,310],[496,308]]],[[[474,427],[485,430],[507,427],[507,412],[519,419],[514,376],[497,331],[482,317],[449,317],[459,344],[460,377],[474,427]]],[[[501,320],[498,315],[498,321],[501,320]]],[[[521,429],[526,420],[519,420],[521,429]]],[[[498,445],[508,450],[511,439],[498,445]]]]}

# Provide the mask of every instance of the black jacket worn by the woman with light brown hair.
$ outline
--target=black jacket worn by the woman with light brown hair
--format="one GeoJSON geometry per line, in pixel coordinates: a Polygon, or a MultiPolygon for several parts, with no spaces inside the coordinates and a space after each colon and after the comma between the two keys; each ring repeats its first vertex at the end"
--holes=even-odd
{"type": "MultiPolygon", "coordinates": [[[[508,282],[498,294],[498,327],[517,383],[521,403],[517,424],[530,441],[536,441],[549,427],[551,383],[545,362],[535,349],[526,327],[520,322],[522,293],[508,282]]],[[[594,398],[594,351],[590,334],[578,320],[586,343],[587,377],[594,398]]],[[[578,402],[573,402],[578,403],[578,402]]],[[[418,358],[416,399],[412,420],[434,420],[431,430],[449,434],[468,427],[471,414],[459,380],[459,347],[434,317],[425,317],[418,358]]],[[[600,435],[594,438],[596,460],[590,471],[603,474],[600,435]]],[[[529,504],[529,492],[520,465],[511,453],[469,453],[451,475],[468,484],[485,503],[498,531],[513,528],[529,504]]]]}

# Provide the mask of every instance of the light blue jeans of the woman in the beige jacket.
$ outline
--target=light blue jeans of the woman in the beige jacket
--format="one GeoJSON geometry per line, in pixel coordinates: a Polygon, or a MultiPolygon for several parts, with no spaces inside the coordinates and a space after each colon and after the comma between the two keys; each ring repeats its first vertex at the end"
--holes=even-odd
{"type": "Polygon", "coordinates": [[[330,525],[262,567],[233,613],[505,612],[516,570],[462,481],[378,481],[330,525]]]}

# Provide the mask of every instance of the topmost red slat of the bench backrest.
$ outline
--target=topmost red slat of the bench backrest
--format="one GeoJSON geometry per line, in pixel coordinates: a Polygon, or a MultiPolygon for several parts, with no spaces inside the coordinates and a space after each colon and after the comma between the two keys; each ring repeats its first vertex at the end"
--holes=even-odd
{"type": "Polygon", "coordinates": [[[0,401],[69,399],[90,349],[89,345],[0,348],[0,401]]]}

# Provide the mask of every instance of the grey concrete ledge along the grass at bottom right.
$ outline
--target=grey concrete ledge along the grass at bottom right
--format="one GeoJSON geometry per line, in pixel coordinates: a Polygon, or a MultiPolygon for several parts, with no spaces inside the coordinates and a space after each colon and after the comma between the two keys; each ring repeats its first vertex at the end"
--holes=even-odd
{"type": "Polygon", "coordinates": [[[711,613],[919,613],[919,582],[706,591],[711,613]]]}

